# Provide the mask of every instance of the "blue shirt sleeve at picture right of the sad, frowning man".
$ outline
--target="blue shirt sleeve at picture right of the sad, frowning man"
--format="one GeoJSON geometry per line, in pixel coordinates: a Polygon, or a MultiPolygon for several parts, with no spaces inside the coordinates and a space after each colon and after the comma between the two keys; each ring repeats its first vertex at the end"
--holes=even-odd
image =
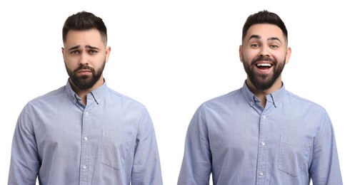
{"type": "Polygon", "coordinates": [[[161,164],[154,125],[145,109],[136,137],[131,184],[161,185],[161,164]]]}

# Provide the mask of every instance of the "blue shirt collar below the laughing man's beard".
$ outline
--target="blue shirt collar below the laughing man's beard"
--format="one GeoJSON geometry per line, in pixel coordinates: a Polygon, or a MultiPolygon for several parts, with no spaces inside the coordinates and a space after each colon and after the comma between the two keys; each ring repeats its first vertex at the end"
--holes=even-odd
{"type": "MultiPolygon", "coordinates": [[[[244,85],[241,88],[241,92],[243,93],[243,96],[245,97],[246,101],[249,103],[249,105],[254,106],[255,102],[260,101],[254,93],[251,93],[248,86],[246,85],[246,81],[244,81],[244,85]]],[[[271,93],[270,95],[266,95],[266,100],[269,102],[271,101],[275,107],[279,105],[282,98],[284,97],[286,93],[286,89],[284,88],[284,83],[282,83],[282,87],[279,90],[274,91],[274,93],[271,93]]]]}

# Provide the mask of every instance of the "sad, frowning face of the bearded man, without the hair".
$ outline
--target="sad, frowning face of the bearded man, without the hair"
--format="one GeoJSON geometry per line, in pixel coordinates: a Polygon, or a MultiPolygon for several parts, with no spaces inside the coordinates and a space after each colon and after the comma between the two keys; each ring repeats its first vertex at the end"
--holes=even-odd
{"type": "Polygon", "coordinates": [[[102,73],[109,52],[96,29],[69,31],[62,53],[71,83],[80,90],[103,84],[102,73]]]}

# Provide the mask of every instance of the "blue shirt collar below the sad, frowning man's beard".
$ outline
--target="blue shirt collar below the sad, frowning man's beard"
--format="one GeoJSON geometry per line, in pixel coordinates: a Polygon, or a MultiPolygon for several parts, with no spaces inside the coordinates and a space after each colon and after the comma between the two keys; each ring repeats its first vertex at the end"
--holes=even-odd
{"type": "MultiPolygon", "coordinates": [[[[104,84],[101,85],[99,88],[96,88],[94,90],[91,91],[91,93],[89,93],[87,95],[87,98],[94,98],[94,100],[96,101],[97,104],[99,104],[99,101],[101,101],[101,98],[104,97],[104,94],[106,93],[107,90],[107,84],[106,84],[106,80],[104,80],[104,84]]],[[[76,95],[76,93],[74,92],[74,90],[71,88],[71,83],[69,83],[69,80],[67,80],[66,83],[66,92],[69,95],[69,97],[71,98],[71,101],[75,104],[76,102],[78,102],[79,100],[81,100],[81,98],[76,95]]]]}

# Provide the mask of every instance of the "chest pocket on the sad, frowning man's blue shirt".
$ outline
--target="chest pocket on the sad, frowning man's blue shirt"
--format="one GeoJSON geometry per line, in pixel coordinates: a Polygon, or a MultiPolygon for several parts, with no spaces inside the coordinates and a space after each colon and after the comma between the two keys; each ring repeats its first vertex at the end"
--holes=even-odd
{"type": "Polygon", "coordinates": [[[101,163],[114,169],[121,169],[129,152],[131,152],[131,141],[126,132],[103,130],[101,163]]]}

